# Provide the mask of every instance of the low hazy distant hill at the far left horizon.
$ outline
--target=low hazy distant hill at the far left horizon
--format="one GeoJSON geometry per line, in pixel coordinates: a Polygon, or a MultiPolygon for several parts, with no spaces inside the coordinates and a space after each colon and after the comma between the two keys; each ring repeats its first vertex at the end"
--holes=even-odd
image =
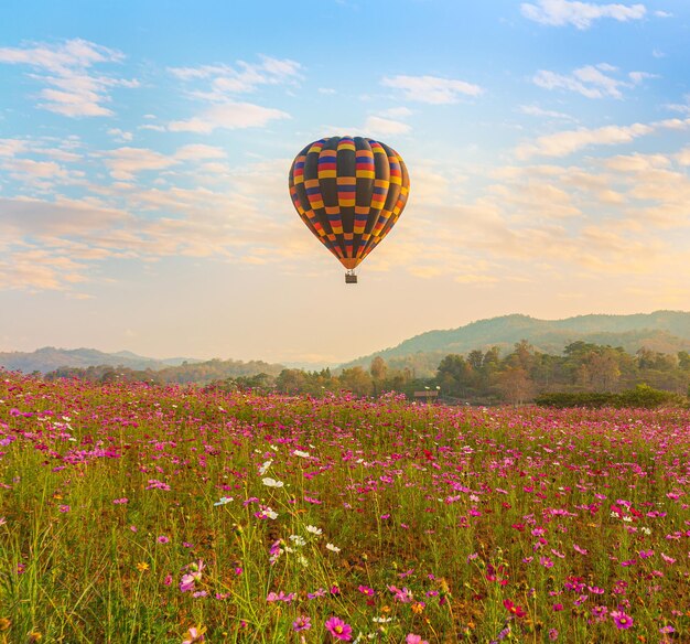
{"type": "Polygon", "coordinates": [[[201,361],[183,357],[155,359],[137,355],[130,351],[104,353],[95,348],[55,348],[53,346],[44,346],[31,353],[21,351],[0,352],[0,367],[25,374],[33,372],[45,374],[60,367],[86,368],[99,365],[127,367],[137,371],[159,371],[169,366],[181,365],[184,362],[197,363],[201,361]]]}

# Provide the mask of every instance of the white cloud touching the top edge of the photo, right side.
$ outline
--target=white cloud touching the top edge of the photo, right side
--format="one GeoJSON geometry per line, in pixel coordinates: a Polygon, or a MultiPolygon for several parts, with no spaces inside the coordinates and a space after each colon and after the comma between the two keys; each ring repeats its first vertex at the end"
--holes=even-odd
{"type": "Polygon", "coordinates": [[[612,18],[619,22],[640,20],[647,13],[644,4],[594,4],[570,0],[537,0],[537,4],[524,2],[522,15],[540,24],[562,26],[572,24],[578,29],[589,29],[595,20],[612,18]]]}

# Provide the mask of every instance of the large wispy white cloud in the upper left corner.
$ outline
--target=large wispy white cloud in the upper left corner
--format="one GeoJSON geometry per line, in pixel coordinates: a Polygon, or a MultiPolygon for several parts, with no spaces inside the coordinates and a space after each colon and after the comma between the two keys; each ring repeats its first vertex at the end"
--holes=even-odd
{"type": "Polygon", "coordinates": [[[97,64],[120,63],[123,54],[95,43],[74,39],[58,45],[33,44],[1,47],[0,63],[28,65],[39,74],[30,76],[46,85],[37,107],[67,117],[110,116],[104,104],[111,87],[138,87],[137,80],[93,75],[97,64]]]}

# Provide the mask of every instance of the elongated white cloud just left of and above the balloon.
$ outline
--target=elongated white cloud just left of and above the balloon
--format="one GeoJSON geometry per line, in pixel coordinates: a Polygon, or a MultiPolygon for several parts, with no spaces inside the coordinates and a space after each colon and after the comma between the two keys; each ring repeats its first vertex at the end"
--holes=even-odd
{"type": "Polygon", "coordinates": [[[290,118],[290,115],[272,107],[261,107],[251,103],[224,103],[209,107],[197,117],[172,121],[168,129],[172,132],[208,135],[215,129],[260,128],[272,120],[283,118],[290,118]]]}

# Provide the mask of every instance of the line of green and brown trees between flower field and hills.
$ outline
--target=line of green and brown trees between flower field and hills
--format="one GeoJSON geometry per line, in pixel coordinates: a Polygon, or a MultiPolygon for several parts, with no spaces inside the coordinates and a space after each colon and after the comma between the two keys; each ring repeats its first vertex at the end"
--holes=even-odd
{"type": "MultiPolygon", "coordinates": [[[[242,373],[227,376],[220,367],[224,361],[211,364],[183,365],[162,371],[134,371],[123,367],[62,368],[45,375],[46,379],[79,377],[93,382],[143,380],[155,384],[196,383],[223,389],[255,389],[288,395],[352,391],[356,396],[379,396],[397,391],[413,397],[428,391],[439,393],[450,402],[493,405],[522,404],[537,396],[561,393],[621,393],[645,384],[649,387],[687,394],[690,386],[690,354],[680,351],[665,354],[640,348],[635,354],[623,347],[572,342],[562,354],[542,353],[526,340],[513,351],[500,354],[498,347],[474,350],[467,354],[449,354],[439,363],[435,375],[414,376],[411,368],[393,368],[377,356],[368,368],[354,366],[339,371],[328,368],[262,369],[266,363],[242,365],[242,373]],[[269,372],[273,373],[269,373],[269,372]],[[258,373],[257,373],[258,372],[258,373]],[[222,375],[223,374],[223,375],[222,375]]],[[[247,363],[249,364],[249,363],[247,363]]],[[[237,365],[235,365],[237,366],[237,365]]]]}

